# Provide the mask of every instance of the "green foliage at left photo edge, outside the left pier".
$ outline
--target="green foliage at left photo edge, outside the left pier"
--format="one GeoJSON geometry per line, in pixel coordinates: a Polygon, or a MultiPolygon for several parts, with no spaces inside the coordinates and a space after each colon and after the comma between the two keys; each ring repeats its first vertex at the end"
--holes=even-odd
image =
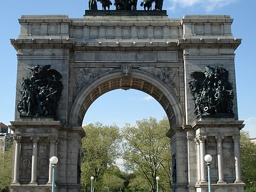
{"type": "Polygon", "coordinates": [[[12,182],[12,147],[0,155],[0,191],[9,191],[12,182]]]}

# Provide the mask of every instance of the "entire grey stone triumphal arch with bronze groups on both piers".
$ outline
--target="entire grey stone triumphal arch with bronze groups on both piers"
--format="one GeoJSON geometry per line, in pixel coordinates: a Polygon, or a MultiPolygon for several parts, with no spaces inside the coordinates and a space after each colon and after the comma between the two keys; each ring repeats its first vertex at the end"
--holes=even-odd
{"type": "MultiPolygon", "coordinates": [[[[80,191],[88,107],[115,89],[144,91],[169,119],[172,191],[243,191],[234,51],[229,15],[165,10],[86,10],[84,18],[23,15],[17,51],[11,191],[80,191]]],[[[135,109],[136,110],[136,109],[135,109]]],[[[96,114],[95,114],[96,115],[96,114]]],[[[90,176],[88,176],[90,177],[90,176]]]]}

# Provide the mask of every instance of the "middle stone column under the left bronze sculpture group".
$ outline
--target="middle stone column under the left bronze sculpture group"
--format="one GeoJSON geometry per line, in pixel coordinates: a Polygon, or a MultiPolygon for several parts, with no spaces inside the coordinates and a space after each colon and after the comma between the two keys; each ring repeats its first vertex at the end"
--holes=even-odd
{"type": "Polygon", "coordinates": [[[37,142],[39,141],[39,137],[30,137],[30,139],[33,141],[30,184],[37,185],[37,142]]]}

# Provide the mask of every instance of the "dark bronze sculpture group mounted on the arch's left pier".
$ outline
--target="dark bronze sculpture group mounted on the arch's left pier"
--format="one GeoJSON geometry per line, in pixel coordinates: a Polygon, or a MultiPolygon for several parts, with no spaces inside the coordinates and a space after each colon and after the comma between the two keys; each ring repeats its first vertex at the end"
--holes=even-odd
{"type": "Polygon", "coordinates": [[[62,75],[51,65],[29,68],[31,76],[21,83],[20,116],[55,116],[62,95],[62,75]]]}

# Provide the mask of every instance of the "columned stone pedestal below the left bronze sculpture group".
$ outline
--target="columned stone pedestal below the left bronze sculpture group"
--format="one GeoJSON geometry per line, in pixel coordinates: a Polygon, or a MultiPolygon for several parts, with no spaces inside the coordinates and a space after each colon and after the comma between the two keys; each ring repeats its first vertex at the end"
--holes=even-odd
{"type": "Polygon", "coordinates": [[[80,140],[84,137],[82,127],[65,127],[60,121],[38,118],[34,121],[12,121],[10,128],[15,137],[15,157],[10,191],[51,191],[52,168],[49,158],[59,157],[56,165],[56,191],[62,191],[63,177],[69,177],[69,184],[79,191],[77,182],[77,156],[80,155],[80,140]],[[68,129],[69,128],[69,129],[68,129]],[[66,148],[71,144],[74,148],[66,148]],[[69,152],[73,157],[68,157],[69,152]],[[74,166],[67,170],[66,166],[74,166]],[[72,177],[74,177],[73,180],[72,177]]]}

